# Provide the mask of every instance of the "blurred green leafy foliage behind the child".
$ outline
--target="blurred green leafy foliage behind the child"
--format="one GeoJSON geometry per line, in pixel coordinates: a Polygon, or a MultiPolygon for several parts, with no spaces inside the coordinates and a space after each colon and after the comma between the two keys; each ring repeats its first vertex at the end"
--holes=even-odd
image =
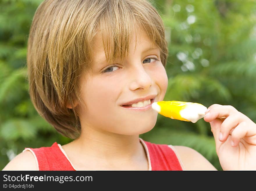
{"type": "MultiPolygon", "coordinates": [[[[26,47],[42,0],[0,0],[0,169],[25,147],[72,141],[38,115],[28,94],[26,47]]],[[[256,122],[256,2],[151,0],[166,26],[167,100],[232,105],[256,122]]],[[[222,170],[209,123],[161,115],[144,140],[191,147],[222,170]]]]}

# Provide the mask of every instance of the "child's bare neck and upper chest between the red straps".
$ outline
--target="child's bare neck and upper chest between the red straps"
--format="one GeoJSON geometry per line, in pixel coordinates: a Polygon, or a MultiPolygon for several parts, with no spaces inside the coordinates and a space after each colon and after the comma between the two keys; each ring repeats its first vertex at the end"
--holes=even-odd
{"type": "MultiPolygon", "coordinates": [[[[63,149],[68,152],[67,155],[70,155],[73,165],[77,164],[81,167],[86,161],[92,168],[94,165],[97,167],[102,164],[106,165],[97,170],[108,167],[109,170],[135,170],[138,167],[143,170],[148,169],[147,156],[138,135],[120,135],[88,128],[81,133],[79,138],[69,144],[70,147],[63,149]]],[[[88,169],[88,167],[83,168],[88,169]]]]}

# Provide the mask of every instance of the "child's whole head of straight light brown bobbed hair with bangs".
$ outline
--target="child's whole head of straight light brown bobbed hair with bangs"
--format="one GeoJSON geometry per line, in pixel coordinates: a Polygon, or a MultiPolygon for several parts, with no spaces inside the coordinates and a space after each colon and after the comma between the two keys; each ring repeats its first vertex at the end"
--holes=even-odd
{"type": "Polygon", "coordinates": [[[81,133],[75,101],[80,100],[79,76],[92,64],[97,31],[104,34],[111,63],[127,56],[135,25],[159,47],[165,67],[165,28],[146,0],[45,0],[37,8],[28,39],[29,94],[38,113],[59,133],[72,139],[81,133]]]}

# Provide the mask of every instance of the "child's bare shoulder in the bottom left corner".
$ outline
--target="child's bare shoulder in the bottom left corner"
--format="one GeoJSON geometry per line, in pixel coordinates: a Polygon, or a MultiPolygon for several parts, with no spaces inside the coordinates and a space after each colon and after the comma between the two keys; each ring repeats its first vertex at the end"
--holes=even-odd
{"type": "Polygon", "coordinates": [[[14,157],[3,170],[38,170],[33,153],[26,150],[14,157]]]}

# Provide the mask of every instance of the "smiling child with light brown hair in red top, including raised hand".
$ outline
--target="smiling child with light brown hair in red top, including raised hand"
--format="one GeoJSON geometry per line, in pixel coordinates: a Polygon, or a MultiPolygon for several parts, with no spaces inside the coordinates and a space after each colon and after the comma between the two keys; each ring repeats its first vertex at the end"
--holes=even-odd
{"type": "MultiPolygon", "coordinates": [[[[189,147],[139,138],[156,124],[167,56],[163,22],[146,0],[45,0],[28,41],[30,96],[74,141],[26,148],[4,170],[216,170],[189,147]]],[[[204,120],[224,170],[256,169],[254,122],[218,104],[204,120]]]]}

